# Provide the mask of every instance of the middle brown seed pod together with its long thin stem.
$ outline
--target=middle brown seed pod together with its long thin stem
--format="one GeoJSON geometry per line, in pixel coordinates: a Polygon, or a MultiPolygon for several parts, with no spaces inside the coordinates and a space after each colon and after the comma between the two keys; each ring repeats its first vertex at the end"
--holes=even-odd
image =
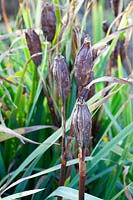
{"type": "MultiPolygon", "coordinates": [[[[53,66],[53,76],[55,79],[55,84],[58,89],[58,95],[62,99],[62,160],[61,160],[61,172],[60,172],[60,181],[59,186],[64,185],[65,181],[65,169],[66,169],[66,139],[65,139],[65,130],[66,130],[66,120],[65,120],[65,101],[70,92],[70,75],[68,72],[67,64],[65,58],[58,54],[54,60],[53,66]]],[[[61,200],[62,197],[58,197],[58,200],[61,200]]]]}

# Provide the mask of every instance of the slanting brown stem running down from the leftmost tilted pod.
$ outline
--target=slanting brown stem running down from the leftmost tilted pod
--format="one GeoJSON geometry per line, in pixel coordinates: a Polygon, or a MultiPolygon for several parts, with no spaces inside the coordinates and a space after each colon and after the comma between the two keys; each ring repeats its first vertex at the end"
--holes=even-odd
{"type": "Polygon", "coordinates": [[[39,67],[37,68],[37,71],[38,71],[38,76],[39,76],[39,78],[42,81],[43,92],[44,92],[44,95],[47,98],[47,102],[48,102],[49,110],[50,110],[50,113],[51,113],[52,121],[53,121],[54,125],[58,127],[59,126],[59,124],[58,124],[58,117],[57,117],[57,115],[55,113],[55,109],[54,109],[54,105],[53,105],[53,100],[52,100],[51,96],[48,94],[46,82],[45,82],[45,80],[41,76],[39,67]]]}

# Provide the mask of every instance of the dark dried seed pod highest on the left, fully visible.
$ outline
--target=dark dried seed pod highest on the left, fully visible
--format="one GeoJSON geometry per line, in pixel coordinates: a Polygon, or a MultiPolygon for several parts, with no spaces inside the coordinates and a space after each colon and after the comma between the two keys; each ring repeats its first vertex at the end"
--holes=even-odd
{"type": "Polygon", "coordinates": [[[49,42],[54,39],[56,31],[56,16],[53,5],[45,3],[41,13],[41,25],[44,36],[49,42]]]}

